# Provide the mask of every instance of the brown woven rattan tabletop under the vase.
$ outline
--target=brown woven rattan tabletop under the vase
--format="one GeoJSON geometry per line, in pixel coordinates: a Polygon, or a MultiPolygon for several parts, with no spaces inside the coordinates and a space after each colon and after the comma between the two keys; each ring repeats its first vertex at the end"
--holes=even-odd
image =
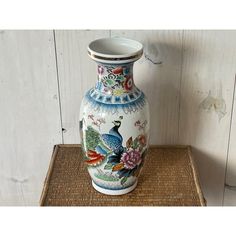
{"type": "Polygon", "coordinates": [[[151,147],[134,191],[108,196],[93,189],[79,145],[54,148],[41,206],[204,206],[190,147],[151,147]]]}

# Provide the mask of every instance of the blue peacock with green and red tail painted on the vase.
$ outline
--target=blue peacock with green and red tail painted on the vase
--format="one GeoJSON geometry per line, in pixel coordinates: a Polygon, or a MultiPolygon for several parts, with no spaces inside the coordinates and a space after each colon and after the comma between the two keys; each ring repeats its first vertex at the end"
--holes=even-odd
{"type": "MultiPolygon", "coordinates": [[[[122,118],[120,117],[120,119],[122,118]]],[[[92,166],[100,165],[108,156],[109,161],[120,159],[124,152],[124,147],[122,146],[123,138],[119,133],[121,121],[115,120],[112,123],[114,126],[109,130],[108,134],[99,134],[92,126],[88,126],[85,130],[87,164],[92,166]]]]}

